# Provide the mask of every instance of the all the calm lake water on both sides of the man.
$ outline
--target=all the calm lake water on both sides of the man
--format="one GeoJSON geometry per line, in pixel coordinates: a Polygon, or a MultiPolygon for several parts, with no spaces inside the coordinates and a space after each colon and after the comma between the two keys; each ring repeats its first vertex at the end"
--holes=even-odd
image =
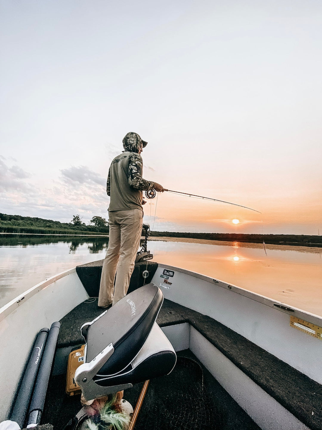
{"type": "MultiPolygon", "coordinates": [[[[106,237],[0,235],[0,307],[78,264],[104,258],[106,237]]],[[[322,248],[150,240],[154,260],[203,273],[322,315],[322,248]]]]}

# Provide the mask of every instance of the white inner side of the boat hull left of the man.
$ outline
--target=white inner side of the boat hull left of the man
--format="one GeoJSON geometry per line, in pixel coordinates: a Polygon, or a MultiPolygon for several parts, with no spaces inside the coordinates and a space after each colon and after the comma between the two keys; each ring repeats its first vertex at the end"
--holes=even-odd
{"type": "Polygon", "coordinates": [[[39,330],[59,321],[86,297],[74,268],[46,279],[0,309],[0,421],[10,415],[39,330]]]}

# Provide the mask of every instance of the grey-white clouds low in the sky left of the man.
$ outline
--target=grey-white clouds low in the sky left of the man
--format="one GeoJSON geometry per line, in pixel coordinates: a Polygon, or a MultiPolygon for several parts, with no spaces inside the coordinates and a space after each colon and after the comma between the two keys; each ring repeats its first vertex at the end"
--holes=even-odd
{"type": "Polygon", "coordinates": [[[65,222],[76,213],[84,222],[94,215],[106,218],[109,197],[105,178],[86,166],[72,166],[61,174],[52,187],[35,186],[26,180],[28,172],[0,156],[1,212],[65,222]]]}

